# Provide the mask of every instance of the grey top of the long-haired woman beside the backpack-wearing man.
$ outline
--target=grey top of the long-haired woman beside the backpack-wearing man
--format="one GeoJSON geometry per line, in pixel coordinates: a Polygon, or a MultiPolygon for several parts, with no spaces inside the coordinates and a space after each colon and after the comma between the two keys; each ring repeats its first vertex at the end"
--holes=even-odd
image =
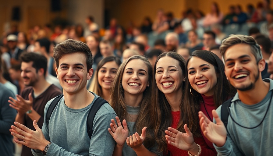
{"type": "MultiPolygon", "coordinates": [[[[133,116],[137,116],[138,113],[140,112],[140,106],[138,107],[131,107],[127,105],[127,113],[133,116]]],[[[128,120],[129,121],[129,120],[128,120]]],[[[136,127],[135,127],[135,123],[136,122],[126,122],[127,123],[127,128],[129,129],[129,135],[133,135],[134,133],[137,132],[136,127]]],[[[141,134],[139,134],[141,135],[141,134]]],[[[162,153],[158,152],[158,145],[155,142],[155,146],[153,146],[152,148],[148,148],[149,151],[154,152],[155,154],[158,155],[162,155],[162,153]]],[[[136,152],[129,147],[126,143],[124,144],[123,148],[122,148],[122,156],[137,156],[136,152]]]]}

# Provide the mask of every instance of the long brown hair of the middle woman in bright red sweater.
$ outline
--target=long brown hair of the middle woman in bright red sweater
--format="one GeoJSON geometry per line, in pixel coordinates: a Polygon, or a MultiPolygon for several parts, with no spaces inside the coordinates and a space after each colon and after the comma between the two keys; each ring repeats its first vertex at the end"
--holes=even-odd
{"type": "MultiPolygon", "coordinates": [[[[182,69],[182,76],[185,76],[186,74],[186,61],[185,59],[183,59],[183,57],[179,54],[177,54],[176,52],[164,52],[161,55],[158,56],[158,59],[156,60],[155,64],[154,64],[154,72],[153,72],[153,83],[152,83],[152,89],[153,89],[153,96],[152,96],[152,105],[155,105],[156,108],[154,110],[154,115],[156,116],[155,120],[156,122],[154,123],[154,136],[155,136],[155,140],[158,143],[158,151],[167,151],[167,141],[165,139],[165,130],[171,126],[172,124],[172,115],[171,115],[171,107],[164,95],[164,93],[162,93],[156,84],[156,80],[155,80],[155,72],[156,72],[156,64],[158,62],[159,59],[163,58],[163,57],[171,57],[173,59],[176,59],[179,62],[179,66],[182,69]]],[[[181,80],[183,81],[183,79],[181,80]]],[[[183,81],[182,83],[182,92],[184,92],[184,86],[185,86],[185,82],[183,81]]],[[[181,98],[183,99],[183,94],[181,95],[181,98]]],[[[182,101],[179,105],[182,105],[182,101]]],[[[180,110],[181,112],[181,110],[180,110]]],[[[179,124],[177,126],[177,129],[179,131],[185,131],[184,130],[184,122],[183,122],[183,118],[181,117],[183,113],[180,113],[180,120],[179,120],[179,124]]],[[[190,126],[189,127],[191,132],[193,132],[193,135],[195,135],[195,130],[190,126]]]]}

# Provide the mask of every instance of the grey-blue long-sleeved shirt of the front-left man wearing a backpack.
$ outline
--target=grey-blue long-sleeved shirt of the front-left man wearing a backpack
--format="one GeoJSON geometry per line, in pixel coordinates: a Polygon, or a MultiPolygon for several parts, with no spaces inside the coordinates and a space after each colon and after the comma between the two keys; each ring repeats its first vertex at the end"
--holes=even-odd
{"type": "MultiPolygon", "coordinates": [[[[108,132],[108,128],[110,127],[111,119],[115,119],[116,114],[109,104],[105,103],[102,105],[95,115],[91,139],[87,134],[87,115],[90,107],[98,98],[98,95],[94,95],[95,98],[92,103],[82,109],[67,107],[64,103],[64,98],[59,101],[59,104],[52,112],[48,126],[46,121],[44,121],[42,127],[45,139],[52,142],[46,155],[112,155],[115,140],[108,132]]],[[[53,99],[46,104],[44,116],[52,101],[53,99]]],[[[37,152],[37,150],[32,150],[32,153],[34,156],[43,155],[42,152],[37,152]]]]}

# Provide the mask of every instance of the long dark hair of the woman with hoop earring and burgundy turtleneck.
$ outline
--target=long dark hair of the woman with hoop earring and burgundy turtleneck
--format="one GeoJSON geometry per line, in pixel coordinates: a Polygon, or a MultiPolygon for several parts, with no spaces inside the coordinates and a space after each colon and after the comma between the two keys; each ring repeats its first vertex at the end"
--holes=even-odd
{"type": "MultiPolygon", "coordinates": [[[[217,55],[212,53],[211,51],[206,50],[196,50],[190,55],[190,59],[192,57],[198,57],[214,66],[215,73],[218,75],[217,83],[214,91],[214,107],[215,109],[222,105],[228,98],[233,97],[236,93],[234,87],[229,84],[225,76],[225,66],[224,63],[219,59],[217,55]]],[[[186,67],[188,66],[189,60],[186,63],[186,67]]],[[[188,72],[186,73],[186,81],[189,81],[188,72]]],[[[192,94],[190,93],[191,85],[190,83],[186,83],[185,87],[185,97],[184,97],[184,105],[180,108],[183,110],[183,119],[194,120],[196,123],[199,122],[198,111],[200,110],[200,102],[203,101],[203,98],[200,93],[198,93],[193,88],[191,89],[192,94]],[[193,110],[194,108],[194,110],[193,110]],[[195,115],[190,112],[193,110],[195,115]]],[[[199,124],[197,124],[199,128],[199,124]]]]}

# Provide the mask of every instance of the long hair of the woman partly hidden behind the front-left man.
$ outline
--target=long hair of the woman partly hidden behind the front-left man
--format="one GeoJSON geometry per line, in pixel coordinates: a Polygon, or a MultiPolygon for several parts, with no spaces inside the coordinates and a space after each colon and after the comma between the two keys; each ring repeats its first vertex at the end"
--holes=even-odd
{"type": "Polygon", "coordinates": [[[101,85],[99,84],[98,81],[98,71],[101,69],[101,67],[107,63],[107,62],[112,62],[115,61],[115,63],[119,66],[121,64],[121,61],[118,57],[115,56],[107,56],[106,58],[102,59],[97,66],[96,72],[95,72],[95,76],[93,77],[93,80],[91,82],[91,86],[90,86],[90,90],[94,92],[95,94],[97,94],[98,96],[103,98],[103,93],[102,93],[102,88],[101,85]]]}

